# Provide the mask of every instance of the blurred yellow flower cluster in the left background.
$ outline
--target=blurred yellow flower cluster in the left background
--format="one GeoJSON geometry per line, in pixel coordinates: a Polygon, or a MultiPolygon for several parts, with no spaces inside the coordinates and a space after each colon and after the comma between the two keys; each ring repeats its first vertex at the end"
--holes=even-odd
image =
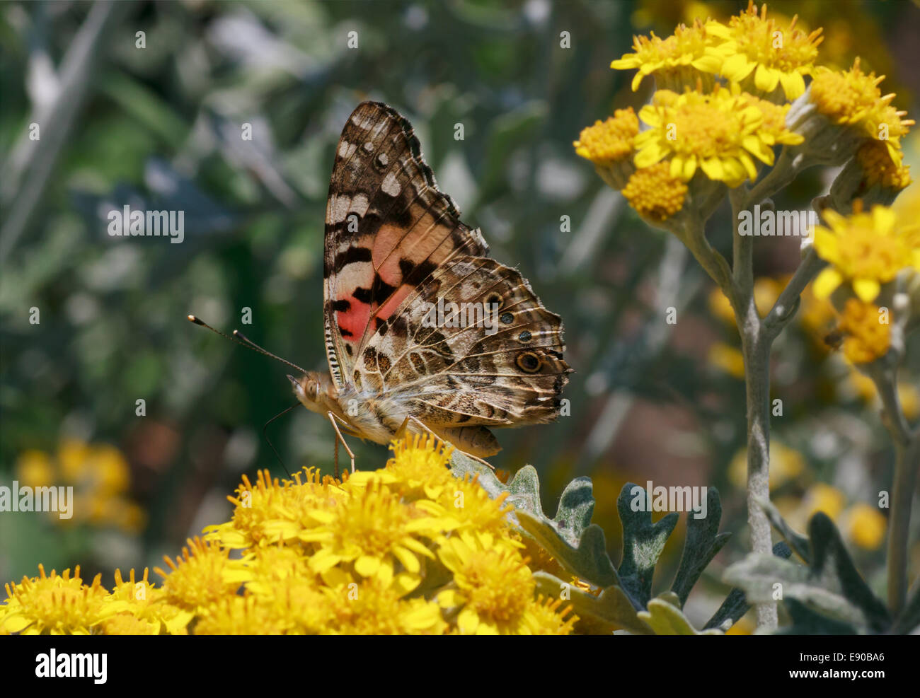
{"type": "Polygon", "coordinates": [[[108,443],[89,444],[64,439],[56,453],[30,449],[19,454],[16,477],[20,486],[74,487],[74,515],[57,525],[117,526],[126,532],[144,528],[144,510],[127,497],[131,469],[124,455],[108,443]]]}

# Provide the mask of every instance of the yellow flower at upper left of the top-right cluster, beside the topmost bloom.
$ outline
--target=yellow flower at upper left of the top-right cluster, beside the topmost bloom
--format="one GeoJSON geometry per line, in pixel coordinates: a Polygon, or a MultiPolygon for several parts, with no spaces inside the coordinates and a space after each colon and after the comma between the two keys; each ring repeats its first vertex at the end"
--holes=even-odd
{"type": "MultiPolygon", "coordinates": [[[[716,73],[719,70],[719,58],[707,52],[714,36],[695,21],[690,27],[683,24],[674,29],[672,36],[661,39],[651,32],[651,37],[633,37],[635,53],[625,53],[622,58],[610,64],[615,70],[632,70],[638,68],[633,77],[632,89],[638,89],[642,78],[650,74],[657,77],[677,78],[677,83],[695,83],[693,69],[703,73],[716,73]]],[[[668,81],[670,85],[672,81],[668,81]]],[[[676,85],[674,85],[676,86],[676,85]]]]}

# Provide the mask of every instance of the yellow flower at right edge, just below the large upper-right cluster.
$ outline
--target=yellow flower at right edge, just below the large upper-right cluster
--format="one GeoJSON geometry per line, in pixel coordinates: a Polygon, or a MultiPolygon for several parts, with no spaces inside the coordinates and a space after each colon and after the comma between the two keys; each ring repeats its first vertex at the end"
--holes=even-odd
{"type": "Polygon", "coordinates": [[[814,294],[827,298],[848,281],[865,301],[874,301],[881,284],[897,276],[901,269],[920,269],[920,228],[897,226],[897,216],[885,206],[873,206],[870,213],[857,205],[851,216],[826,210],[830,228],[816,226],[814,248],[830,262],[814,280],[814,294]]]}

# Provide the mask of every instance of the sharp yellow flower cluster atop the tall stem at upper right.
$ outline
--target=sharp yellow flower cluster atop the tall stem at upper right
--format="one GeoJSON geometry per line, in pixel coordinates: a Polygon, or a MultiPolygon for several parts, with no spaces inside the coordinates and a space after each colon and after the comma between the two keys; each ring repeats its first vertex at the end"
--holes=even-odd
{"type": "MultiPolygon", "coordinates": [[[[817,65],[822,29],[806,32],[796,27],[797,21],[767,17],[765,4],[758,9],[749,0],[746,10],[726,23],[697,18],[663,39],[654,33],[635,37],[633,51],[611,67],[637,71],[634,91],[646,75],[655,78],[657,92],[638,113],[649,128],[624,134],[615,128],[619,120],[598,121],[581,133],[576,152],[603,167],[635,148],[640,170],[665,160],[671,176],[684,182],[701,171],[713,182],[736,188],[756,180],[758,161],[774,165],[777,145],[799,145],[808,134],[808,147],[823,154],[827,143],[814,138],[806,118],[817,111],[821,116],[816,127],[822,131],[841,126],[856,130],[854,150],[861,139],[871,139],[887,152],[888,161],[878,149],[862,152],[866,187],[880,182],[885,188],[903,189],[910,179],[902,167],[900,139],[914,121],[904,120],[906,112],[891,106],[894,95],[880,94],[881,78],[863,74],[858,59],[843,73],[817,65]],[[811,110],[793,109],[792,100],[805,93],[806,75],[811,76],[811,92],[802,102],[811,110]]],[[[834,133],[829,135],[834,139],[834,133]]],[[[843,146],[838,150],[842,156],[853,153],[843,146]]],[[[630,174],[617,178],[599,172],[615,189],[630,174]]],[[[692,193],[694,201],[709,195],[692,193]]]]}

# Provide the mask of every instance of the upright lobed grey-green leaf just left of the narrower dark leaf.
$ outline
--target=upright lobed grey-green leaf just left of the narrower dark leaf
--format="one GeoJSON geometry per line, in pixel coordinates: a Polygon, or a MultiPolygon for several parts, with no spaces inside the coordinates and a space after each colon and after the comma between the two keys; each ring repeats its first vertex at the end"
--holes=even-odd
{"type": "Polygon", "coordinates": [[[616,509],[623,523],[623,560],[618,573],[623,589],[644,608],[651,598],[655,565],[674,530],[678,514],[670,513],[652,523],[650,511],[633,511],[630,506],[630,502],[638,497],[638,492],[634,495],[634,490],[641,490],[642,497],[646,496],[644,489],[627,483],[616,499],[616,509]]]}

